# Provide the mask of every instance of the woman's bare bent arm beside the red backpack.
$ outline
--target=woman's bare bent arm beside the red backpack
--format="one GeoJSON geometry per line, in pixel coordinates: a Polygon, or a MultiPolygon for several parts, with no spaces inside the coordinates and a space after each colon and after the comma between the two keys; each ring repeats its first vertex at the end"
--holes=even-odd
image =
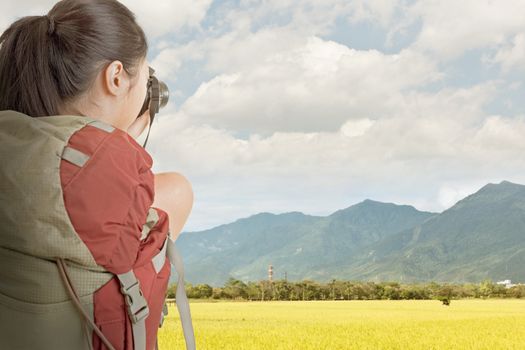
{"type": "Polygon", "coordinates": [[[155,175],[155,198],[152,207],[168,213],[170,237],[179,236],[193,206],[193,190],[190,182],[176,172],[155,175]]]}

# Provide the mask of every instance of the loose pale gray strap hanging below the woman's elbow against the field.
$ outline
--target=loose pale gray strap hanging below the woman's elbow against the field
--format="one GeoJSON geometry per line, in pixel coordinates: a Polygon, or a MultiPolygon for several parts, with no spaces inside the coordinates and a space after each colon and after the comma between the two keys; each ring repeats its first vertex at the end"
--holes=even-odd
{"type": "Polygon", "coordinates": [[[177,275],[179,275],[175,298],[182,323],[182,330],[184,332],[184,339],[186,340],[186,349],[195,350],[195,335],[191,323],[190,304],[188,303],[188,298],[184,289],[184,266],[182,264],[182,257],[175,247],[175,242],[169,237],[169,234],[166,242],[168,243],[168,259],[175,267],[177,275]]]}

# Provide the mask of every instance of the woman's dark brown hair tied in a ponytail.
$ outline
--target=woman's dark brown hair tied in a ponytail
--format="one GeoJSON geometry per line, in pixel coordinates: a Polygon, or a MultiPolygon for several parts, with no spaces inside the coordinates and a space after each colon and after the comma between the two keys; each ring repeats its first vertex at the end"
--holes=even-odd
{"type": "Polygon", "coordinates": [[[98,72],[122,62],[130,76],[148,44],[135,15],[116,0],[62,0],[46,16],[27,16],[0,36],[0,110],[59,114],[98,72]]]}

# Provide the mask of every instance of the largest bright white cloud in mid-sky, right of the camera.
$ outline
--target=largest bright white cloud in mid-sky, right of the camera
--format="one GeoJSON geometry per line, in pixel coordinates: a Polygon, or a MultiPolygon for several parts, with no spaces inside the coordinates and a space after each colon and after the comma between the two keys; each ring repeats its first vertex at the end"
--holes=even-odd
{"type": "Polygon", "coordinates": [[[210,65],[224,73],[203,83],[181,109],[229,130],[333,131],[347,119],[393,114],[405,90],[440,77],[431,60],[410,50],[385,55],[317,37],[272,50],[267,37],[259,39],[210,53],[210,65]]]}

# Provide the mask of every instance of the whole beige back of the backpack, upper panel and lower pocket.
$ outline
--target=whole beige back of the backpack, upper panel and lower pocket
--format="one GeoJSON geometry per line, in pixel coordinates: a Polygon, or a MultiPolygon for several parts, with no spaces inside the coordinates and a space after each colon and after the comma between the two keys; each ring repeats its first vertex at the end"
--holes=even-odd
{"type": "Polygon", "coordinates": [[[76,234],[60,183],[64,146],[93,121],[0,112],[1,349],[92,347],[92,331],[70,301],[54,260],[68,261],[69,277],[93,319],[93,293],[113,274],[95,263],[76,234]]]}

